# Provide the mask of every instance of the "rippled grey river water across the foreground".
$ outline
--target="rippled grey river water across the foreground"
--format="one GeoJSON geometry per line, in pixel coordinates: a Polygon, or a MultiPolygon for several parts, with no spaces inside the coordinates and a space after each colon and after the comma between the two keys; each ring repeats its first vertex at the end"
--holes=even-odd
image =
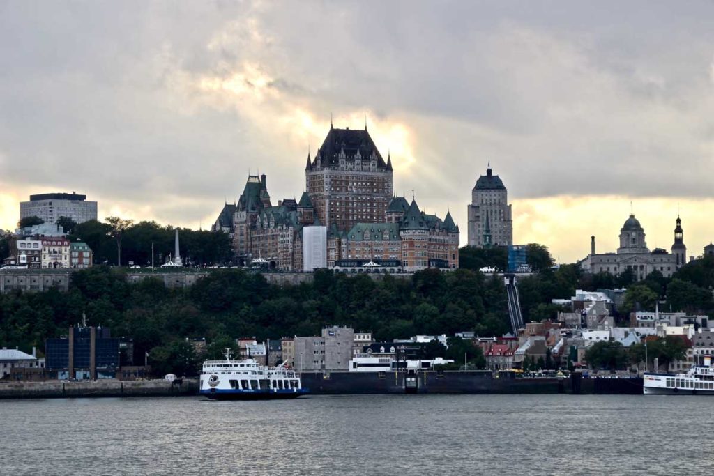
{"type": "Polygon", "coordinates": [[[2,475],[704,475],[714,398],[0,401],[2,475]]]}

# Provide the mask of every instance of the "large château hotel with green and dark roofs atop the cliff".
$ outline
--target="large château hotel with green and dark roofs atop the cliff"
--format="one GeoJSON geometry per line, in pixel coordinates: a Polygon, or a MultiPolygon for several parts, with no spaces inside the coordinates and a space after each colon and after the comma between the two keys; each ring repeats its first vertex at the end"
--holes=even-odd
{"type": "Polygon", "coordinates": [[[336,268],[346,272],[458,268],[459,230],[415,200],[393,195],[385,161],[364,130],[333,126],[314,158],[299,201],[271,203],[267,178],[248,176],[237,203],[226,203],[213,230],[231,234],[239,265],[278,270],[336,268]]]}

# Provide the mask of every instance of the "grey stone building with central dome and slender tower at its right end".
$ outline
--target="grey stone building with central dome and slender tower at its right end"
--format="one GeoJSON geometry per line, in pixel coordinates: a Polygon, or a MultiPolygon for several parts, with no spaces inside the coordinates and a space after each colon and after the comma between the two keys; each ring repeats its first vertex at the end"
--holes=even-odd
{"type": "Polygon", "coordinates": [[[687,248],[684,244],[682,221],[677,217],[674,229],[674,243],[671,253],[662,248],[651,251],[645,242],[645,230],[633,214],[620,229],[620,247],[617,253],[595,253],[595,236],[590,238],[590,254],[578,265],[588,273],[609,273],[618,275],[631,271],[636,280],[643,280],[653,271],[659,271],[665,278],[672,275],[686,263],[687,248]]]}

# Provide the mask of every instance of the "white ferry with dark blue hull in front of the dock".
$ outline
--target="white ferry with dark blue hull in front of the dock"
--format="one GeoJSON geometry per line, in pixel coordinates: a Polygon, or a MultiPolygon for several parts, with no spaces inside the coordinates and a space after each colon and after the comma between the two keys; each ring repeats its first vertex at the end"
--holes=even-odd
{"type": "Polygon", "coordinates": [[[257,400],[296,398],[310,393],[302,388],[294,370],[278,366],[268,368],[253,359],[231,360],[226,349],[225,360],[206,360],[203,363],[201,395],[213,400],[257,400]]]}

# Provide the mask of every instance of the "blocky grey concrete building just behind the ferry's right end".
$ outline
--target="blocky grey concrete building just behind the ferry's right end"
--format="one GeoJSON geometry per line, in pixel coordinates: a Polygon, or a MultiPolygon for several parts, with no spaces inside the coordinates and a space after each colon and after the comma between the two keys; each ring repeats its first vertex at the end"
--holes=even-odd
{"type": "Polygon", "coordinates": [[[294,368],[299,372],[346,371],[353,343],[353,329],[337,325],[323,328],[320,336],[296,337],[294,368]]]}

